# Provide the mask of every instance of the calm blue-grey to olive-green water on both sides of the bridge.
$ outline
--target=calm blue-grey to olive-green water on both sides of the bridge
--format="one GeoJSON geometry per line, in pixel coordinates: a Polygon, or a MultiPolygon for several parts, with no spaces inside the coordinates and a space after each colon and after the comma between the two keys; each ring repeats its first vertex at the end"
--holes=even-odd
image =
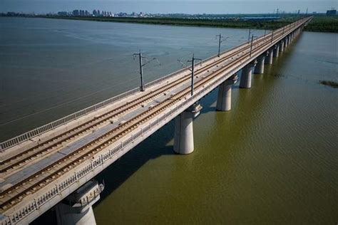
{"type": "MultiPolygon", "coordinates": [[[[175,61],[217,51],[215,34],[246,30],[47,19],[1,19],[0,132],[18,132],[138,85],[141,48],[159,58],[147,80],[175,61]],[[4,32],[3,32],[4,31],[4,32]]],[[[262,31],[255,31],[260,34],[262,31]]],[[[263,31],[264,32],[264,31],[263,31]]],[[[98,224],[337,224],[338,35],[302,33],[232,111],[215,112],[217,90],[194,121],[195,152],[173,154],[173,122],[102,172],[98,224]]],[[[36,224],[43,224],[41,217],[36,224]]]]}

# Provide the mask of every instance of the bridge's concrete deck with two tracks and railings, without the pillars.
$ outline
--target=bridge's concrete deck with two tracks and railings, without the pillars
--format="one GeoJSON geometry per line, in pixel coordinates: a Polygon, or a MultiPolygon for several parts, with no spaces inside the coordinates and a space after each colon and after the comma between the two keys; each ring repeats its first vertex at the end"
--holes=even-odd
{"type": "Polygon", "coordinates": [[[39,216],[309,19],[257,38],[251,56],[244,43],[196,65],[193,96],[190,70],[180,70],[145,92],[3,150],[0,221],[39,216]]]}

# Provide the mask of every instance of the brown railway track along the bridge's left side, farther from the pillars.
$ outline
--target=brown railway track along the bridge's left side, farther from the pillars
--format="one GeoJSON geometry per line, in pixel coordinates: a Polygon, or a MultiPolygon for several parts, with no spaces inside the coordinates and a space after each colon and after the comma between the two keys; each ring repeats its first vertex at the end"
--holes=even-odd
{"type": "MultiPolygon", "coordinates": [[[[282,28],[280,28],[279,30],[275,32],[275,38],[278,38],[281,35],[280,34],[281,31],[282,31],[282,28]]],[[[270,39],[270,37],[271,37],[271,34],[267,36],[263,36],[259,40],[256,40],[255,46],[257,46],[257,44],[264,43],[265,41],[270,39]]],[[[245,46],[245,45],[247,45],[247,43],[244,43],[241,46],[245,46]]],[[[237,46],[236,48],[239,48],[241,46],[237,46]]],[[[238,55],[242,51],[247,51],[248,49],[250,49],[250,46],[239,48],[237,51],[233,53],[229,53],[229,54],[223,53],[222,54],[223,56],[221,58],[217,59],[216,61],[213,61],[212,63],[209,63],[207,66],[203,66],[203,68],[199,68],[198,70],[196,70],[195,76],[198,76],[200,73],[204,73],[205,71],[208,71],[210,68],[212,68],[213,66],[216,66],[218,63],[227,61],[229,60],[229,58],[232,58],[238,55]]],[[[99,117],[95,117],[92,120],[89,120],[88,122],[83,123],[82,125],[74,127],[73,129],[68,130],[67,132],[64,132],[61,135],[53,137],[51,140],[47,140],[46,142],[43,142],[37,145],[36,147],[32,147],[29,150],[20,152],[19,155],[14,155],[13,157],[10,157],[9,159],[5,159],[0,165],[1,176],[8,177],[11,173],[16,172],[17,169],[23,168],[35,162],[36,159],[39,159],[40,155],[47,156],[53,152],[56,152],[56,150],[59,150],[64,145],[67,145],[77,140],[78,138],[83,137],[83,135],[88,134],[89,132],[95,130],[96,128],[102,125],[108,124],[109,122],[111,122],[111,120],[114,120],[120,117],[121,115],[128,113],[128,111],[133,110],[140,105],[148,103],[150,100],[153,100],[159,95],[162,95],[163,93],[165,93],[165,91],[170,90],[171,88],[175,88],[175,86],[180,85],[181,83],[189,79],[190,79],[189,74],[184,75],[182,78],[179,78],[178,80],[175,80],[172,83],[169,83],[168,85],[165,85],[156,90],[153,90],[150,93],[142,95],[130,103],[126,103],[124,105],[119,106],[118,108],[115,108],[109,112],[104,113],[103,115],[100,115],[99,117]]]]}

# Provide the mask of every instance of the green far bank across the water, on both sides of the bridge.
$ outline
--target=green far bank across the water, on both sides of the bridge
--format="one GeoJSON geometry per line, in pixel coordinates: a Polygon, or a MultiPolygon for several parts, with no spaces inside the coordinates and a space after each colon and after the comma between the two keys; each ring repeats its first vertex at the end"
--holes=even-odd
{"type": "MultiPolygon", "coordinates": [[[[45,16],[53,19],[74,19],[87,21],[121,22],[121,23],[147,23],[172,26],[210,26],[224,28],[259,28],[276,29],[296,21],[297,16],[285,17],[278,21],[235,21],[213,19],[182,19],[182,18],[132,18],[132,17],[68,17],[45,16]]],[[[338,33],[338,16],[314,16],[314,19],[305,28],[306,31],[320,31],[338,33]]]]}

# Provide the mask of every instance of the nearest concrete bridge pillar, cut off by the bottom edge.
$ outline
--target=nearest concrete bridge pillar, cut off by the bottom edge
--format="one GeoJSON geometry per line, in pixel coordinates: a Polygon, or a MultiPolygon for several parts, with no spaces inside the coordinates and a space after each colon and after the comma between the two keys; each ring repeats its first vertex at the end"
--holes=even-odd
{"type": "Polygon", "coordinates": [[[103,185],[91,180],[69,195],[56,207],[56,219],[59,225],[96,224],[93,204],[100,199],[103,185]]]}

